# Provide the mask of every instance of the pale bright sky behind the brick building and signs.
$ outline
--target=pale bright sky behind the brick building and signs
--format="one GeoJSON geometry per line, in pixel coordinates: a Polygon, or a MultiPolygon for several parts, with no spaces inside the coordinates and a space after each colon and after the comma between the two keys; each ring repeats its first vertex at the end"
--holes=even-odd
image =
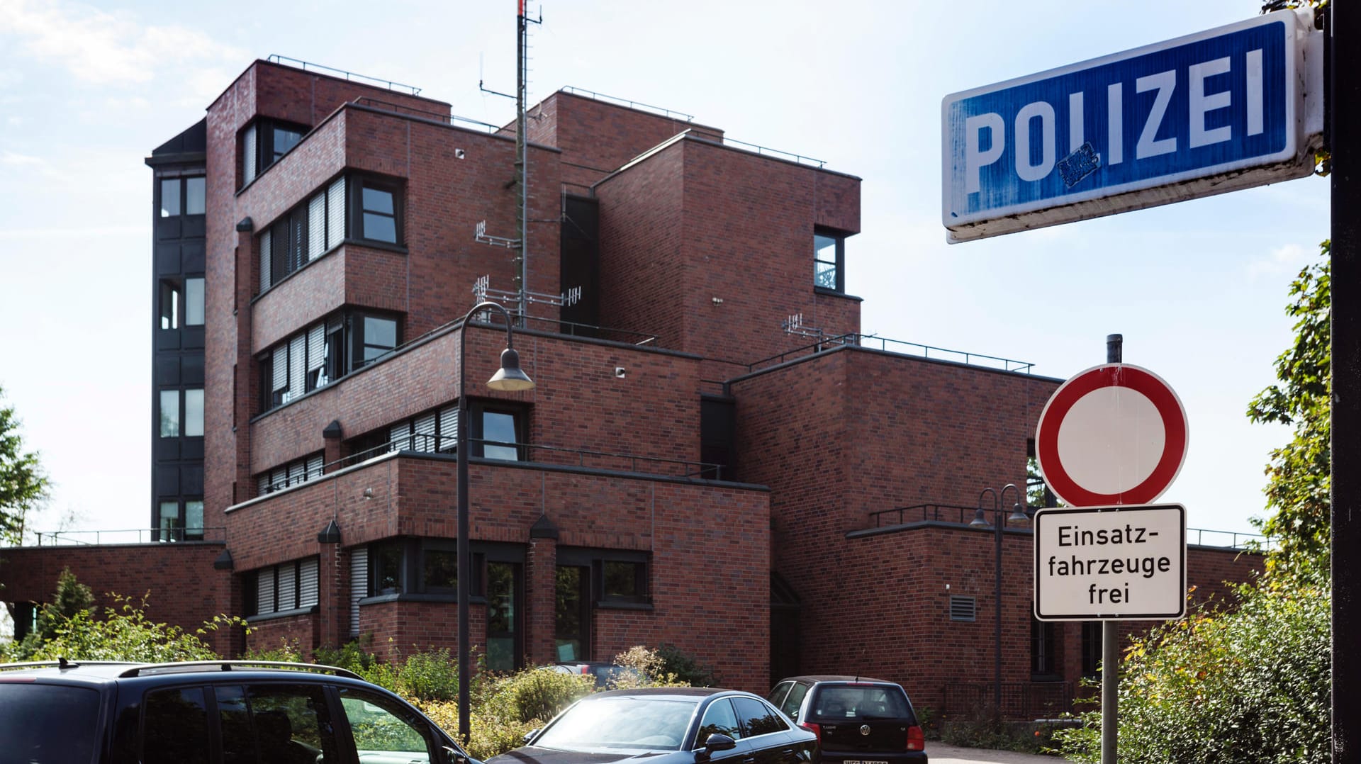
{"type": "MultiPolygon", "coordinates": [[[[543,20],[531,27],[531,104],[587,89],[862,177],[845,268],[863,332],[1060,379],[1104,362],[1106,335],[1123,334],[1124,361],[1166,380],[1190,422],[1162,500],[1184,504],[1192,528],[1253,530],[1268,452],[1290,433],[1245,410],[1292,340],[1288,289],[1328,236],[1327,181],[947,245],[940,101],[1247,19],[1258,3],[528,7],[543,20]]],[[[478,87],[514,90],[514,0],[0,0],[0,387],[53,481],[30,527],[150,523],[143,159],[269,54],[416,86],[457,116],[514,118],[513,101],[478,87]]]]}

